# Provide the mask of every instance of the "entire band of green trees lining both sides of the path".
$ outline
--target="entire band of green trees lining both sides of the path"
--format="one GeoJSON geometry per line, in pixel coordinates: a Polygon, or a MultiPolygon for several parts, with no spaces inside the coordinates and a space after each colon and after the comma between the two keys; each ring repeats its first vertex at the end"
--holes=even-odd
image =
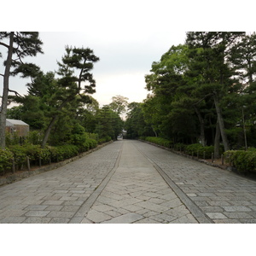
{"type": "MultiPolygon", "coordinates": [[[[152,63],[145,75],[148,96],[143,102],[113,96],[102,108],[91,96],[96,88],[91,70],[99,61],[93,50],[67,46],[59,70],[43,73],[23,62],[27,55],[43,52],[38,32],[0,32],[0,46],[7,48],[3,38],[13,49],[2,74],[1,127],[6,116],[22,119],[33,130],[44,131],[42,147],[65,142],[78,125],[113,139],[125,129],[127,138],[153,136],[172,143],[213,145],[216,155],[220,147],[227,151],[256,146],[255,32],[187,32],[184,44],[172,45],[152,63]],[[26,84],[28,94],[17,92],[4,99],[14,92],[8,75],[18,73],[32,78],[26,84]],[[20,105],[7,110],[9,101],[20,105]],[[120,118],[124,113],[125,121],[120,118]]],[[[3,148],[1,131],[0,141],[3,148]]]]}

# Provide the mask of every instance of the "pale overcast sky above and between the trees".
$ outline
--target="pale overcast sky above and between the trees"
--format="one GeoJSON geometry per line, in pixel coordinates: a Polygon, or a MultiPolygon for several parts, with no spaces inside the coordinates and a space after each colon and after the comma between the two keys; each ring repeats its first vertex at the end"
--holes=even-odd
{"type": "Polygon", "coordinates": [[[144,76],[149,73],[152,62],[159,61],[172,44],[183,44],[185,32],[112,33],[40,32],[44,55],[33,57],[31,61],[44,72],[54,71],[56,61],[61,61],[65,53],[65,45],[89,47],[100,57],[92,71],[96,79],[96,93],[92,96],[101,105],[110,103],[117,95],[128,97],[129,102],[142,102],[148,93],[144,76]]]}

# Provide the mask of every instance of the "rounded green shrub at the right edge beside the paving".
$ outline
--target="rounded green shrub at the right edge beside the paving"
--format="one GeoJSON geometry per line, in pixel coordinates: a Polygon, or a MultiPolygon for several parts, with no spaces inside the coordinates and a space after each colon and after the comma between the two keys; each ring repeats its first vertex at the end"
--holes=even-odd
{"type": "Polygon", "coordinates": [[[224,159],[230,166],[235,167],[238,172],[256,172],[256,149],[229,150],[224,153],[224,159]]]}

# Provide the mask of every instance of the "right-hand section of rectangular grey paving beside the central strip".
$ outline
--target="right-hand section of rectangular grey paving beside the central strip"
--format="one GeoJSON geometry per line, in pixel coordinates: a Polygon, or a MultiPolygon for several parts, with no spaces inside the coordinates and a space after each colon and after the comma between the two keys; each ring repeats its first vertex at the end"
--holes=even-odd
{"type": "Polygon", "coordinates": [[[148,143],[137,147],[218,224],[256,223],[256,182],[148,143]]]}

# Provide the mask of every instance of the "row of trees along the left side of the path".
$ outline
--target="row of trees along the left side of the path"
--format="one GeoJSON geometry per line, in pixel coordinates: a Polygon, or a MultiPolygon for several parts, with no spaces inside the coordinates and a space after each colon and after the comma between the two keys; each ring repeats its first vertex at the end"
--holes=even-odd
{"type": "Polygon", "coordinates": [[[127,99],[114,96],[113,102],[100,108],[91,96],[96,92],[91,71],[99,61],[93,50],[67,46],[61,61],[57,62],[57,72],[44,73],[40,67],[23,61],[28,55],[43,53],[42,44],[38,32],[0,32],[0,46],[8,51],[1,74],[0,148],[6,148],[6,118],[21,119],[30,125],[37,137],[34,143],[42,148],[75,142],[74,135],[79,137],[83,132],[96,134],[99,141],[116,139],[123,129],[120,114],[127,99]],[[26,84],[25,96],[9,89],[10,76],[17,74],[31,78],[26,84]],[[18,106],[8,109],[9,102],[16,102],[18,106]]]}

